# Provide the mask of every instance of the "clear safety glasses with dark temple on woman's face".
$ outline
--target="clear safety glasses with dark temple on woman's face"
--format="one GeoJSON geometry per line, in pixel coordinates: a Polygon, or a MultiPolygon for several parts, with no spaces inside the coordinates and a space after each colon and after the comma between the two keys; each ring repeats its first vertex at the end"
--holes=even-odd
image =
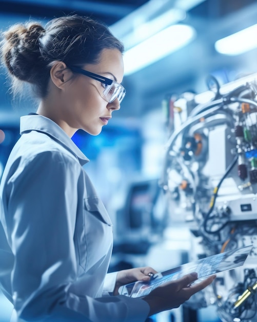
{"type": "Polygon", "coordinates": [[[104,97],[107,100],[107,102],[111,103],[117,98],[118,102],[121,104],[121,102],[124,99],[124,96],[126,94],[125,88],[121,84],[115,82],[112,79],[91,73],[91,71],[82,69],[77,66],[69,66],[68,68],[70,68],[74,73],[88,76],[90,78],[93,78],[93,79],[103,83],[105,85],[103,94],[104,94],[104,97]]]}

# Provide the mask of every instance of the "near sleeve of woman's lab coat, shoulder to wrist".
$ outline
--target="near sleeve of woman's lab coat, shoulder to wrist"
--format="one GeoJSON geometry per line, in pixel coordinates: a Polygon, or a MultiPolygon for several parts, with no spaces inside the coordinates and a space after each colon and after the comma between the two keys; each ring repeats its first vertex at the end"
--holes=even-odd
{"type": "Polygon", "coordinates": [[[75,294],[72,287],[77,282],[73,234],[80,164],[71,156],[53,151],[38,154],[24,165],[21,160],[16,163],[6,183],[6,220],[15,256],[11,283],[19,318],[144,321],[149,306],[142,299],[94,299],[75,294]]]}

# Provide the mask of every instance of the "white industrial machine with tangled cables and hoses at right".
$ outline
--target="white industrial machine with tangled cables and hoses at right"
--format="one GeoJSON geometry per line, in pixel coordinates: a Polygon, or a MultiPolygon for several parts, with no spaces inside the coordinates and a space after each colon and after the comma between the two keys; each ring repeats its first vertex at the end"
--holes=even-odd
{"type": "Polygon", "coordinates": [[[217,275],[192,308],[216,306],[224,322],[257,321],[257,74],[164,100],[163,188],[171,222],[191,232],[190,260],[253,245],[245,264],[217,275]],[[179,214],[179,216],[177,216],[179,214]]]}

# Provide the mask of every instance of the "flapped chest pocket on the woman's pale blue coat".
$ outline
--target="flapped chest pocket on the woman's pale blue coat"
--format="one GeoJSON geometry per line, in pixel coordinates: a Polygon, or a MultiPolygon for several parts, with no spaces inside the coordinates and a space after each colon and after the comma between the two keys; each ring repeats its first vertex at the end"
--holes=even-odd
{"type": "Polygon", "coordinates": [[[85,271],[100,263],[112,247],[112,223],[103,202],[84,199],[85,244],[80,246],[80,265],[85,271]],[[85,247],[85,249],[83,249],[85,247]]]}

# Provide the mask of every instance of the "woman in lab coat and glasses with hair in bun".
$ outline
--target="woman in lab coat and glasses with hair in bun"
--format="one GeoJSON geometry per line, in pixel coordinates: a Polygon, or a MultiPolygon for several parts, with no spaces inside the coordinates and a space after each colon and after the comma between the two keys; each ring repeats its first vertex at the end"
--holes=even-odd
{"type": "Polygon", "coordinates": [[[112,224],[70,138],[78,129],[99,134],[120,109],[122,52],[106,26],[77,15],[3,34],[13,91],[29,83],[39,98],[37,112],[21,118],[0,186],[0,282],[12,321],[140,322],[213,280],[189,287],[197,276],[187,275],[139,299],[118,288],[148,281],[151,267],[107,274],[112,224]]]}

